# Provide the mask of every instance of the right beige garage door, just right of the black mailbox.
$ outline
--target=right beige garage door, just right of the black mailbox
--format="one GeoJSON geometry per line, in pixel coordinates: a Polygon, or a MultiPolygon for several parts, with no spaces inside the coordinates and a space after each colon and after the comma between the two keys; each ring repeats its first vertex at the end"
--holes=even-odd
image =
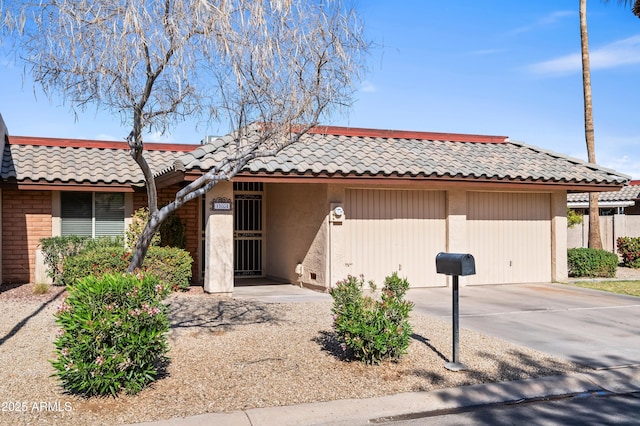
{"type": "Polygon", "coordinates": [[[551,196],[469,192],[468,238],[476,275],[468,284],[551,281],[551,196]]]}

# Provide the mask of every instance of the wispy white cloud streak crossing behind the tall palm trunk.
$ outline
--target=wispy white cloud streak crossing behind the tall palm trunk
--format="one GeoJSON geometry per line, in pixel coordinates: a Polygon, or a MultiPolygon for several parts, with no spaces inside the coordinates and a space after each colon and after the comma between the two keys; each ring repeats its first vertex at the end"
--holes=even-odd
{"type": "MultiPolygon", "coordinates": [[[[640,63],[640,35],[590,49],[589,63],[592,70],[616,68],[640,63]]],[[[564,75],[582,70],[582,56],[572,53],[526,67],[529,72],[540,75],[564,75]]]]}

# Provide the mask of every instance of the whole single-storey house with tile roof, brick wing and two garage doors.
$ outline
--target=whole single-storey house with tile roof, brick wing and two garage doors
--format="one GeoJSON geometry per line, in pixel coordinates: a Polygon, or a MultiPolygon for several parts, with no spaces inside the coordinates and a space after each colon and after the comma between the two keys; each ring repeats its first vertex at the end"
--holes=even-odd
{"type": "MultiPolygon", "coordinates": [[[[233,142],[148,144],[161,198],[233,142]]],[[[8,137],[3,281],[35,279],[39,239],[75,232],[74,206],[91,210],[95,235],[111,225],[99,226],[105,218],[126,226],[145,204],[134,166],[123,143],[8,137]]],[[[567,192],[618,190],[628,180],[502,136],[317,127],[180,216],[194,279],[211,293],[231,293],[239,277],[325,289],[347,274],[381,283],[393,271],[414,287],[443,286],[442,251],[474,255],[477,274],[463,284],[564,281],[567,192]]]]}

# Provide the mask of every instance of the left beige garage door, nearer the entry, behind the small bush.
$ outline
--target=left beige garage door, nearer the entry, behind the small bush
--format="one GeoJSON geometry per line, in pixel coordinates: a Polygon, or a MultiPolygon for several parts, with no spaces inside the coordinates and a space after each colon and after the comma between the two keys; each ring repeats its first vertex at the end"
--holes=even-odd
{"type": "Polygon", "coordinates": [[[346,263],[379,287],[398,271],[412,287],[444,286],[435,257],[446,249],[443,191],[348,189],[346,263]]]}

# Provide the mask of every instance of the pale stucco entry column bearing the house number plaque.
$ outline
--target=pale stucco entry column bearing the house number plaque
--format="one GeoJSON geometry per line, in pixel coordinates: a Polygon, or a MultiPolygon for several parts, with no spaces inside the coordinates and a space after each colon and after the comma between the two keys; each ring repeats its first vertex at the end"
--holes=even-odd
{"type": "Polygon", "coordinates": [[[233,183],[219,182],[205,198],[206,293],[233,292],[233,183]]]}

